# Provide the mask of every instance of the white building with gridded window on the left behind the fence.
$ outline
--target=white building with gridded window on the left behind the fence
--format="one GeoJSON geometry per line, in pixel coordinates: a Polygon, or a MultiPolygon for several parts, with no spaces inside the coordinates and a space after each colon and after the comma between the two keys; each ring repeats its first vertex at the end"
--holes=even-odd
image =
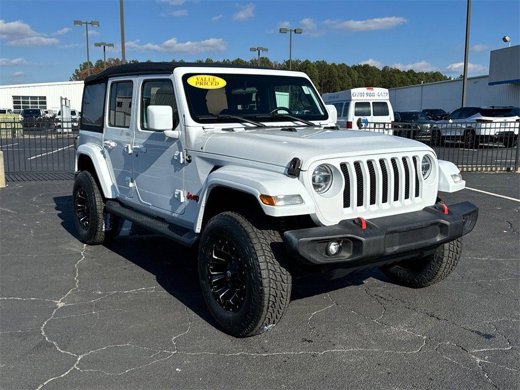
{"type": "Polygon", "coordinates": [[[15,113],[24,108],[43,108],[58,111],[60,98],[70,100],[70,108],[81,111],[83,81],[58,83],[0,85],[0,108],[15,113]]]}

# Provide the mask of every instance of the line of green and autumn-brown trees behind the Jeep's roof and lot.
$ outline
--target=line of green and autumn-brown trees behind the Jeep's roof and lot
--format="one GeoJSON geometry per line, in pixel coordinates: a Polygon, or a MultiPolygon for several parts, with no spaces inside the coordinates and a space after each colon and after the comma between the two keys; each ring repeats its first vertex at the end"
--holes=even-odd
{"type": "MultiPolygon", "coordinates": [[[[130,63],[139,62],[137,60],[127,61],[130,63]]],[[[152,62],[147,60],[146,62],[152,62]]],[[[175,60],[172,62],[185,62],[184,60],[175,60]]],[[[198,63],[222,63],[244,66],[257,66],[257,59],[243,60],[236,58],[234,60],[213,60],[206,58],[205,60],[197,60],[198,63]]],[[[119,58],[108,58],[107,67],[120,65],[119,58]]],[[[260,58],[260,66],[279,70],[289,70],[289,61],[271,61],[268,57],[260,58]]],[[[90,63],[90,74],[97,74],[105,69],[103,60],[97,60],[96,63],[90,63]]],[[[357,87],[382,87],[396,88],[421,83],[433,83],[436,81],[450,80],[440,72],[415,72],[410,69],[402,71],[397,68],[388,66],[382,69],[376,68],[369,64],[347,65],[346,63],[327,62],[324,60],[310,61],[293,59],[291,69],[294,71],[305,72],[313,81],[320,94],[337,92],[340,90],[352,89],[357,87]]],[[[80,64],[70,77],[70,81],[84,80],[87,76],[87,62],[80,64]]]]}

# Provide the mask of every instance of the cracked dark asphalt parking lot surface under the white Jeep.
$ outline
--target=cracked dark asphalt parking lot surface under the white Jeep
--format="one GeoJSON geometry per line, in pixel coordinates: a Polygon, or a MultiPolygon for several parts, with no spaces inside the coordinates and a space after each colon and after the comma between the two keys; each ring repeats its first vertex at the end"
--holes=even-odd
{"type": "MultiPolygon", "coordinates": [[[[464,178],[518,198],[518,174],[464,178]]],[[[520,387],[520,202],[444,196],[480,210],[439,284],[407,289],[376,269],[303,277],[275,328],[233,339],[207,312],[189,251],[147,235],[83,245],[71,190],[0,192],[3,389],[520,387]]]]}

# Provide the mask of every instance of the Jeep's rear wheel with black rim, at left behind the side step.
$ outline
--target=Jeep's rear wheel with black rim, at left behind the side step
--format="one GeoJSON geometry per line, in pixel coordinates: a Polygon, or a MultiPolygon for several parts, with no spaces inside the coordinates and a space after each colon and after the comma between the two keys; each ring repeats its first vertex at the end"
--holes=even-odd
{"type": "Polygon", "coordinates": [[[76,176],[72,190],[72,210],[76,230],[80,240],[85,244],[103,244],[115,236],[118,218],[105,212],[105,202],[96,179],[88,171],[83,171],[76,176]],[[86,204],[86,209],[83,208],[83,204],[86,204]],[[86,226],[85,216],[88,221],[86,226]],[[105,220],[108,219],[110,219],[110,229],[105,228],[105,220]]]}

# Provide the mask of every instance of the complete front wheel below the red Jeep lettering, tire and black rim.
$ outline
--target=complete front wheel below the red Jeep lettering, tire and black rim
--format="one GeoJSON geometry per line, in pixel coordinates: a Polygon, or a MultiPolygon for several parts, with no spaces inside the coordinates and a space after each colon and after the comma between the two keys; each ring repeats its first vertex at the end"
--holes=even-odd
{"type": "Polygon", "coordinates": [[[280,233],[263,218],[225,212],[205,226],[199,281],[224,330],[248,337],[275,326],[291,300],[291,274],[280,233]]]}

